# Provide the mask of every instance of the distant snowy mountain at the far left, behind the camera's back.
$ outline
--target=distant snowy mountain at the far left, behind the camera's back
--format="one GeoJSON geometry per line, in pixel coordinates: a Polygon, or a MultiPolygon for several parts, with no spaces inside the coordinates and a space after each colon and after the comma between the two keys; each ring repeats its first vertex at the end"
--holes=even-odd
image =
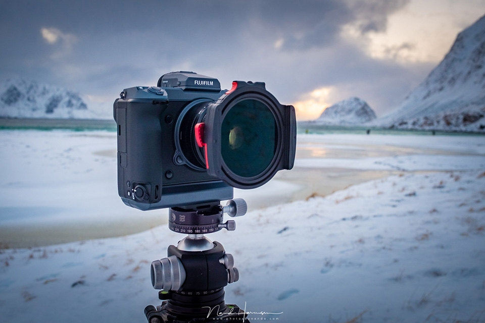
{"type": "Polygon", "coordinates": [[[96,119],[79,94],[21,78],[0,84],[0,117],[96,119]]]}

